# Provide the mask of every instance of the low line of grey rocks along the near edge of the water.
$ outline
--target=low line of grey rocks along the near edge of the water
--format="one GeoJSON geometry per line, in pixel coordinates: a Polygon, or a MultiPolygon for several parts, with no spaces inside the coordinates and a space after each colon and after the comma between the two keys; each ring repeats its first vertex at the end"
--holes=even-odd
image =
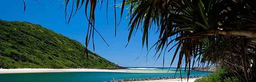
{"type": "MultiPolygon", "coordinates": [[[[189,76],[189,78],[200,78],[202,76],[189,76]]],[[[151,81],[151,80],[166,80],[166,79],[178,79],[180,77],[173,77],[173,76],[169,76],[169,77],[157,77],[157,78],[133,78],[133,79],[117,79],[115,81],[106,81],[106,82],[132,82],[132,81],[151,81]]],[[[182,78],[187,78],[182,77],[182,78]]]]}

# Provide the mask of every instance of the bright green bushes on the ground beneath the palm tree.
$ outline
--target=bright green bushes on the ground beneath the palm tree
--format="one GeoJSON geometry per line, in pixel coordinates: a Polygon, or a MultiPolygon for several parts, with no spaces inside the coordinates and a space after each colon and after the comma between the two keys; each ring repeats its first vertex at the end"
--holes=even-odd
{"type": "Polygon", "coordinates": [[[232,74],[229,73],[230,72],[227,68],[221,67],[216,73],[212,73],[203,78],[196,79],[195,82],[238,82],[238,79],[230,76],[232,74]]]}

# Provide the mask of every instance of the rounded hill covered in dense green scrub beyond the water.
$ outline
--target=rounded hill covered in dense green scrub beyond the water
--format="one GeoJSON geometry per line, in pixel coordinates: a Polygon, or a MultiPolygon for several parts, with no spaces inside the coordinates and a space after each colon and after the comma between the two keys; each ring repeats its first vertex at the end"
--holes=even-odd
{"type": "MultiPolygon", "coordinates": [[[[87,67],[84,45],[41,25],[0,20],[0,67],[87,67]]],[[[99,55],[89,54],[88,67],[117,67],[99,55]]]]}

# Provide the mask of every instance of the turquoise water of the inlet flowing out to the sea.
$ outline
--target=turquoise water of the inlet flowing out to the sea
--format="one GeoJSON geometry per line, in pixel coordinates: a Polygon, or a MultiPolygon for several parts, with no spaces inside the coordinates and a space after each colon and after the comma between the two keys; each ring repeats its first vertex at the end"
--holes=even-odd
{"type": "MultiPolygon", "coordinates": [[[[130,69],[138,70],[138,69],[130,69]]],[[[143,70],[143,69],[140,69],[143,70]]],[[[158,69],[144,69],[158,70],[158,69]]],[[[186,72],[181,72],[186,76],[186,72]]],[[[210,72],[190,72],[192,76],[204,76],[210,72]]],[[[60,73],[12,73],[0,74],[0,82],[104,82],[124,78],[154,78],[174,76],[175,73],[121,73],[121,72],[60,72],[60,73]]],[[[180,73],[176,73],[180,76],[180,73]]]]}

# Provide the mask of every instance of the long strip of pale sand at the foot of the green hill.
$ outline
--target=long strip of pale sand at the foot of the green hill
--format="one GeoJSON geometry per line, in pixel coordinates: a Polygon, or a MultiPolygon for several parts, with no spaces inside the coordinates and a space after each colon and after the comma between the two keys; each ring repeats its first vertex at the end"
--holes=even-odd
{"type": "MultiPolygon", "coordinates": [[[[158,71],[142,71],[128,69],[0,69],[4,73],[54,73],[54,72],[125,72],[125,73],[166,73],[158,71]]],[[[169,72],[172,73],[172,72],[169,72]]]]}

